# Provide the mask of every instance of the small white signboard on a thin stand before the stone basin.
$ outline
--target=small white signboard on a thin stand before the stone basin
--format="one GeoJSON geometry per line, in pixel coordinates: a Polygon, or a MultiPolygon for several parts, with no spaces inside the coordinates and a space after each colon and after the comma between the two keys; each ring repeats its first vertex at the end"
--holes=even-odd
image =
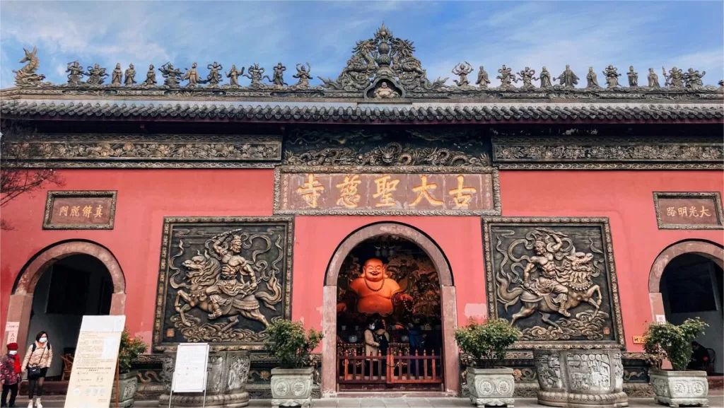
{"type": "Polygon", "coordinates": [[[181,343],[176,349],[173,392],[206,391],[206,365],[209,362],[208,343],[181,343]]]}

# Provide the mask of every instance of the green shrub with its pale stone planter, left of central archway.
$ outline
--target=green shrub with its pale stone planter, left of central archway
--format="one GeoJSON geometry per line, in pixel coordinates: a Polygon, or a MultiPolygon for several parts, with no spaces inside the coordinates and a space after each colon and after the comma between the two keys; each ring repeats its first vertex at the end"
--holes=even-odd
{"type": "Polygon", "coordinates": [[[305,331],[301,322],[290,320],[272,322],[267,330],[266,349],[280,365],[271,370],[271,406],[309,407],[313,383],[309,354],[319,346],[322,333],[305,331]]]}

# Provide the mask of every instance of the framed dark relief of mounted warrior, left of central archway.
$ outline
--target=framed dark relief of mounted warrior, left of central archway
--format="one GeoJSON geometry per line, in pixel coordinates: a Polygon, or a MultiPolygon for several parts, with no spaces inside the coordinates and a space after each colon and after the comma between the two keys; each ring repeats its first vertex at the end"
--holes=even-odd
{"type": "Polygon", "coordinates": [[[292,219],[164,219],[153,345],[261,349],[291,317],[292,219]]]}

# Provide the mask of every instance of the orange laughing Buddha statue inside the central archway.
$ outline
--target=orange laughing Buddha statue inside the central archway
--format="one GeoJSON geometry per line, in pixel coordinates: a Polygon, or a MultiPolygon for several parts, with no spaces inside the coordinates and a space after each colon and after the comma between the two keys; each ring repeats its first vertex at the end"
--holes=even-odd
{"type": "MultiPolygon", "coordinates": [[[[350,290],[357,293],[357,311],[366,315],[375,313],[387,316],[392,315],[395,304],[401,301],[412,301],[407,293],[395,280],[390,279],[387,270],[380,259],[367,259],[362,268],[362,275],[350,283],[350,290]]],[[[343,312],[347,309],[344,303],[337,305],[337,310],[343,312]]]]}

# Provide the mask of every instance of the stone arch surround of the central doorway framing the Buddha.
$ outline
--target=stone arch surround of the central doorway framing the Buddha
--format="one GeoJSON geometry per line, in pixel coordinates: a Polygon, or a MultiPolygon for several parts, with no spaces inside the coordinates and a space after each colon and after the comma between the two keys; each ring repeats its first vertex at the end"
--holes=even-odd
{"type": "Polygon", "coordinates": [[[351,251],[363,241],[376,236],[397,236],[415,243],[432,261],[437,269],[440,284],[440,304],[442,309],[442,350],[445,391],[455,394],[460,388],[460,365],[458,347],[453,333],[458,322],[455,303],[455,286],[452,285],[452,272],[445,254],[436,243],[421,231],[408,225],[395,222],[380,222],[356,230],[345,238],[327,267],[324,282],[324,310],[322,317],[322,394],[331,396],[337,393],[337,281],[342,263],[351,251]]]}

